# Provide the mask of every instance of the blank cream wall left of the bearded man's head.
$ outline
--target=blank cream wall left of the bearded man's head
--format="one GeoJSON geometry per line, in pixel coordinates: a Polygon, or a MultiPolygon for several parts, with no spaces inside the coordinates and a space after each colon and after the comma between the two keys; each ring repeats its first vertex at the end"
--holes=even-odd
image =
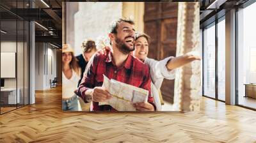
{"type": "Polygon", "coordinates": [[[74,45],[72,46],[75,55],[81,54],[80,47],[84,39],[97,40],[99,36],[108,36],[109,24],[120,18],[122,18],[122,2],[79,3],[79,11],[74,15],[76,33],[74,33],[74,45]]]}

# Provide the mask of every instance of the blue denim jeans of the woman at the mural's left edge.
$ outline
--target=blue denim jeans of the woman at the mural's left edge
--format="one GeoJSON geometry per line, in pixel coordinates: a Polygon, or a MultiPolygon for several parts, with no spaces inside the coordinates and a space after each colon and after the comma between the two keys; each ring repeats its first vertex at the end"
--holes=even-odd
{"type": "Polygon", "coordinates": [[[62,110],[77,111],[78,110],[78,98],[76,95],[69,99],[62,100],[62,110]]]}

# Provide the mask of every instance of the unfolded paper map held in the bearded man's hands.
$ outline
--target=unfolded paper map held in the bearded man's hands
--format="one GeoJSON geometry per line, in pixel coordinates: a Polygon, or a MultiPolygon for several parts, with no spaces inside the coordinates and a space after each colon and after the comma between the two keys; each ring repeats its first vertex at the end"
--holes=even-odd
{"type": "Polygon", "coordinates": [[[107,89],[113,96],[107,102],[100,102],[99,105],[111,105],[118,111],[135,111],[132,103],[147,102],[148,91],[140,87],[131,86],[114,79],[109,80],[104,76],[102,87],[107,89]]]}

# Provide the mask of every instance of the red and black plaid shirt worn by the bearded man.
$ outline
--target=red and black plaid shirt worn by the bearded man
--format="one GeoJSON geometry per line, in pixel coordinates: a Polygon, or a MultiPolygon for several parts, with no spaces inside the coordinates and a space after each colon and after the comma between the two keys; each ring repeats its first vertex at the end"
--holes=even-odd
{"type": "MultiPolygon", "coordinates": [[[[131,54],[129,54],[127,57],[124,65],[120,68],[117,68],[115,64],[113,64],[113,56],[110,51],[108,51],[107,54],[99,51],[95,54],[95,56],[92,57],[87,66],[89,66],[88,72],[84,72],[82,82],[75,92],[84,100],[84,102],[86,102],[86,95],[84,94],[85,91],[87,89],[92,89],[93,87],[102,86],[104,74],[109,79],[115,79],[120,82],[148,90],[148,103],[154,105],[154,100],[150,95],[151,79],[148,66],[147,64],[141,62],[139,59],[131,56],[131,54]]],[[[115,111],[115,109],[109,105],[99,106],[99,102],[93,102],[92,105],[93,110],[95,111],[115,111]]]]}

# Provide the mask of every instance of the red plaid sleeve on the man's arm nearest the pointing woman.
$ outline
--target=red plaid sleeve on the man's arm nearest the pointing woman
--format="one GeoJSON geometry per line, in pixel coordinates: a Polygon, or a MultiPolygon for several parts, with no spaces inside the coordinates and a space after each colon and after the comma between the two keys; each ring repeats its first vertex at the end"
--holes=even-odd
{"type": "Polygon", "coordinates": [[[141,84],[141,88],[148,90],[148,103],[154,106],[154,110],[156,110],[156,105],[154,104],[154,98],[151,96],[151,78],[149,73],[148,66],[145,66],[145,76],[143,77],[143,83],[141,84]]]}

